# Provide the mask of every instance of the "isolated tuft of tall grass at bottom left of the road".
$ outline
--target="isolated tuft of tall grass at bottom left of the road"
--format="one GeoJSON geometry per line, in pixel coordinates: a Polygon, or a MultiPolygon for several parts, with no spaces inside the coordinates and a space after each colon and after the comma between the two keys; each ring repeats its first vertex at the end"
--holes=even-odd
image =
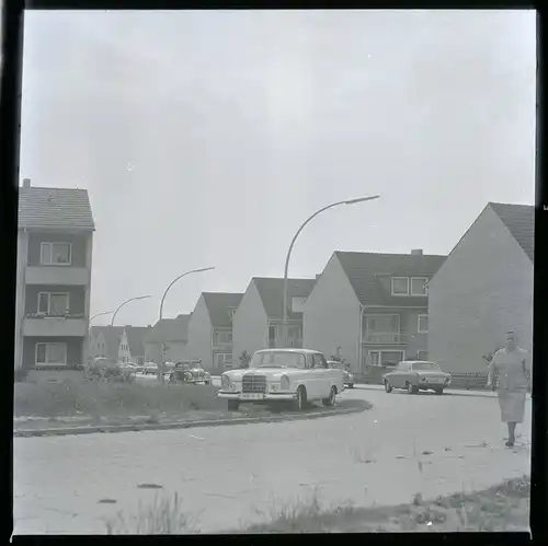
{"type": "Polygon", "coordinates": [[[150,506],[138,506],[137,513],[118,512],[104,520],[109,535],[184,535],[197,533],[197,521],[185,513],[178,493],[155,497],[150,506]]]}

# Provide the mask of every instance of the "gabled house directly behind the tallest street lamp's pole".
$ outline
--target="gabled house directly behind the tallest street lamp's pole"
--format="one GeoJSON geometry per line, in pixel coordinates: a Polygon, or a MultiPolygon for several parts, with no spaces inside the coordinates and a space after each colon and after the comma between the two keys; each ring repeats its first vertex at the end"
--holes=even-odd
{"type": "Polygon", "coordinates": [[[288,279],[287,337],[284,342],[284,279],[253,277],[235,313],[232,361],[239,365],[243,351],[250,355],[267,347],[302,347],[302,310],[316,279],[288,279]]]}

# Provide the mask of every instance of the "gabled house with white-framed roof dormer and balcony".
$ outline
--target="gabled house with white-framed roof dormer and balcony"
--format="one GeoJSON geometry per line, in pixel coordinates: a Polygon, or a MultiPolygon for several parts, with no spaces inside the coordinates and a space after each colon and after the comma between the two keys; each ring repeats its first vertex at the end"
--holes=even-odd
{"type": "Polygon", "coordinates": [[[427,358],[429,281],[445,256],[335,252],[305,303],[304,342],[368,365],[427,358]]]}

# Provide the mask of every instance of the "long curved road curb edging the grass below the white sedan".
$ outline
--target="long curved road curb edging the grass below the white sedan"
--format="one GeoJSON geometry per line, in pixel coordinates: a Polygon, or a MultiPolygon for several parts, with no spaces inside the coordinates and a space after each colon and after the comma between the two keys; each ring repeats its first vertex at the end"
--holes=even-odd
{"type": "Polygon", "coordinates": [[[206,419],[197,421],[175,421],[141,425],[106,425],[90,427],[64,427],[53,429],[27,429],[14,430],[15,438],[31,438],[45,435],[77,435],[77,434],[96,434],[101,432],[141,432],[147,430],[170,430],[170,429],[191,429],[197,427],[226,427],[229,425],[251,425],[255,422],[282,422],[282,421],[301,421],[307,419],[318,419],[320,417],[334,417],[338,415],[358,414],[370,409],[372,405],[364,403],[361,407],[336,408],[327,411],[313,411],[307,414],[274,415],[269,417],[237,417],[235,419],[206,419]]]}

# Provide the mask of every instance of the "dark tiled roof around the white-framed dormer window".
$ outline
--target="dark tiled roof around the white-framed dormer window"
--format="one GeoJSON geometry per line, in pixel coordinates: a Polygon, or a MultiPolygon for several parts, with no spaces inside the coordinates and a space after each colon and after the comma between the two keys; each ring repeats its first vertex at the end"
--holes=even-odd
{"type": "Polygon", "coordinates": [[[424,297],[393,297],[390,278],[431,278],[446,258],[446,256],[425,254],[376,254],[341,251],[336,251],[334,254],[363,305],[397,305],[402,307],[425,305],[424,297]]]}

